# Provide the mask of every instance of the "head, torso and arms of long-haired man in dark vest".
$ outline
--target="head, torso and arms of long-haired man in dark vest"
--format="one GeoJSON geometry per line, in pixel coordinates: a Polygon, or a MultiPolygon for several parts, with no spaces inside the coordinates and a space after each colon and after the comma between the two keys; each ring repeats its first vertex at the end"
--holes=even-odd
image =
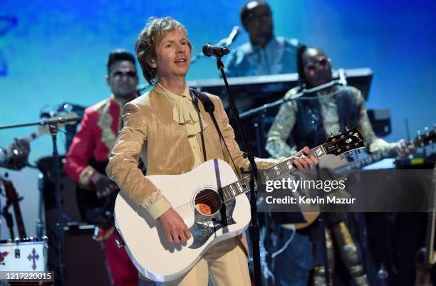
{"type": "MultiPolygon", "coordinates": [[[[285,98],[296,95],[303,88],[316,88],[333,80],[331,60],[320,48],[301,46],[296,58],[299,86],[289,90],[285,98]]],[[[299,144],[317,146],[326,141],[328,134],[345,129],[345,126],[358,128],[370,153],[400,144],[388,143],[375,136],[360,90],[333,85],[281,105],[269,130],[266,151],[274,157],[291,156],[299,144]],[[294,138],[299,141],[293,142],[291,147],[286,141],[294,138]]]]}

